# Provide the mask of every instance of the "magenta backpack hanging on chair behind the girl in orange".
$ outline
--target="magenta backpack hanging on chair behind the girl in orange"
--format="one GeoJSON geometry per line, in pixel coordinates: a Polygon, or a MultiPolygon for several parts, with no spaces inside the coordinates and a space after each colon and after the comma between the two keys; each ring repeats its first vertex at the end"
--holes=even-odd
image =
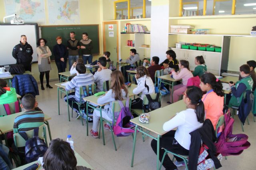
{"type": "Polygon", "coordinates": [[[223,156],[228,155],[239,155],[244,149],[250,147],[250,143],[247,141],[248,136],[245,134],[232,134],[234,119],[230,117],[230,111],[224,114],[225,118],[225,128],[220,134],[218,142],[215,143],[215,147],[218,153],[223,156]]]}

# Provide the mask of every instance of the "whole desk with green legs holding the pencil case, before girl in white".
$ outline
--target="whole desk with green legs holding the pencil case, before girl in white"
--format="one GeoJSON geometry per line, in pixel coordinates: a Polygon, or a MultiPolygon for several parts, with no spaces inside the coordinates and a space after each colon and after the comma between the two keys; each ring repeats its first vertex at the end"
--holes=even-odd
{"type": "Polygon", "coordinates": [[[136,145],[136,136],[137,131],[140,131],[144,135],[147,135],[148,137],[151,137],[157,141],[157,159],[156,159],[156,169],[159,168],[159,143],[160,143],[160,137],[167,133],[168,131],[163,130],[163,125],[166,121],[170,120],[172,117],[176,115],[176,113],[185,110],[186,105],[183,101],[176,102],[174,104],[171,104],[166,107],[162,107],[159,109],[156,109],[154,111],[150,111],[150,122],[148,124],[141,123],[139,121],[139,117],[136,117],[134,119],[131,119],[130,121],[134,123],[135,126],[135,132],[134,132],[134,140],[133,140],[133,149],[132,149],[132,162],[131,166],[133,167],[133,161],[134,161],[134,152],[135,152],[135,145],[136,145]],[[146,131],[144,131],[142,128],[147,129],[148,131],[154,132],[157,134],[157,137],[153,137],[146,131]]]}

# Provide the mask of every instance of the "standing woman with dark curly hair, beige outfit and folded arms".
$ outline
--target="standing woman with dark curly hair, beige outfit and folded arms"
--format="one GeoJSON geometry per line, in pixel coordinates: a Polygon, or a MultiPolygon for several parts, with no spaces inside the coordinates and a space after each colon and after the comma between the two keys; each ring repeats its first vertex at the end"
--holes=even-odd
{"type": "Polygon", "coordinates": [[[46,88],[52,88],[52,86],[49,84],[50,70],[52,70],[50,63],[50,56],[52,55],[52,52],[50,51],[49,47],[45,45],[46,43],[46,39],[40,38],[37,41],[38,47],[36,48],[42,90],[44,90],[44,73],[46,77],[46,88]]]}

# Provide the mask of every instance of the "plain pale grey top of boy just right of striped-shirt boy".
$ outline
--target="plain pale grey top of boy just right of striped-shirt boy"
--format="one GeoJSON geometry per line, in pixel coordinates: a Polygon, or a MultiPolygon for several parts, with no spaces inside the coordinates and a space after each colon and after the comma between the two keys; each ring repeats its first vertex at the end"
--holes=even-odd
{"type": "Polygon", "coordinates": [[[94,74],[94,81],[97,83],[97,92],[103,91],[103,82],[111,79],[112,70],[106,68],[101,71],[96,71],[94,74]]]}

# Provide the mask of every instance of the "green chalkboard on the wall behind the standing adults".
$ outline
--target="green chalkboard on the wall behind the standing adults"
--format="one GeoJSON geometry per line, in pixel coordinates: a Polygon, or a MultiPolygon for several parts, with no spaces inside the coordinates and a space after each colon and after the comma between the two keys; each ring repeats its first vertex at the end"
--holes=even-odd
{"type": "Polygon", "coordinates": [[[92,55],[100,54],[99,44],[99,25],[50,25],[41,26],[41,37],[46,39],[47,46],[52,51],[51,59],[54,60],[53,47],[56,45],[56,37],[62,37],[62,44],[67,46],[67,41],[70,39],[70,32],[74,31],[76,39],[82,39],[82,33],[87,32],[88,38],[92,40],[92,55]]]}

